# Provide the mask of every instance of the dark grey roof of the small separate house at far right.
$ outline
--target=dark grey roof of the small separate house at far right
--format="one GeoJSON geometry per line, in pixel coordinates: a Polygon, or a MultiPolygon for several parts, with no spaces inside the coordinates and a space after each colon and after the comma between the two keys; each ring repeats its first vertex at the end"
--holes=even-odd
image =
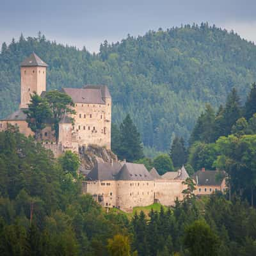
{"type": "Polygon", "coordinates": [[[225,177],[225,172],[223,171],[198,171],[192,175],[192,179],[195,180],[196,184],[199,186],[220,186],[223,179],[216,179],[216,174],[220,173],[225,177]]]}

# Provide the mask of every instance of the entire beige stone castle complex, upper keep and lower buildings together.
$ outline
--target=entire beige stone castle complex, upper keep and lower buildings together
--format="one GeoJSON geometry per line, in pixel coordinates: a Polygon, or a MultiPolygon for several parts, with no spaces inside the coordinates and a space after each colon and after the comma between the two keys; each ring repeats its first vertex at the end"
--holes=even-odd
{"type": "MultiPolygon", "coordinates": [[[[22,61],[20,65],[20,106],[12,115],[0,120],[0,131],[8,125],[19,127],[26,136],[34,135],[28,127],[24,109],[28,109],[31,93],[44,97],[46,91],[47,64],[35,53],[22,61]]],[[[76,114],[63,116],[59,123],[58,141],[52,131],[52,124],[40,134],[45,148],[54,156],[60,156],[65,150],[79,152],[79,147],[97,145],[111,148],[111,95],[107,86],[86,85],[83,88],[62,88],[73,102],[76,114]],[[74,119],[74,123],[71,119],[74,119]]],[[[215,179],[216,172],[204,170],[196,172],[196,195],[209,195],[214,191],[224,191],[225,178],[215,179]]],[[[123,211],[132,211],[136,206],[147,206],[154,202],[173,205],[178,198],[182,200],[182,191],[186,189],[184,180],[189,177],[184,166],[177,172],[159,175],[153,168],[148,172],[143,164],[113,162],[97,164],[86,175],[83,193],[90,193],[103,207],[117,207],[123,211]]]]}

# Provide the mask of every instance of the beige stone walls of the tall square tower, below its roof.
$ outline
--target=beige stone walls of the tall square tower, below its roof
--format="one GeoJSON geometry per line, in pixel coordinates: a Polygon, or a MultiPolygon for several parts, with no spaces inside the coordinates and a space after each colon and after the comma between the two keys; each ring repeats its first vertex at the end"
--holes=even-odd
{"type": "Polygon", "coordinates": [[[20,108],[28,108],[30,94],[46,90],[46,67],[20,67],[20,108]]]}

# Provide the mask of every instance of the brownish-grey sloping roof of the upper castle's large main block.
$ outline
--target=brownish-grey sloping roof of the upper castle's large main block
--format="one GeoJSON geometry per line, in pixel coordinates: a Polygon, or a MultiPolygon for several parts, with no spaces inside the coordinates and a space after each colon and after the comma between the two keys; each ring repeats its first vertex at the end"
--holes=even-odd
{"type": "Polygon", "coordinates": [[[62,88],[74,103],[106,104],[102,99],[102,92],[99,88],[62,88]]]}

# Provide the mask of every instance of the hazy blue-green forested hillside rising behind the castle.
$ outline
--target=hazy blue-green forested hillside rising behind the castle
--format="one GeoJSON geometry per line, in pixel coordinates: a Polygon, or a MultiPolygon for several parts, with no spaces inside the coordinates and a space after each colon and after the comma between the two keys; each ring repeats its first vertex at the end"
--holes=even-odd
{"type": "Polygon", "coordinates": [[[48,89],[107,84],[113,121],[130,113],[144,145],[157,150],[167,150],[174,135],[188,141],[205,102],[216,108],[233,87],[244,100],[256,80],[256,46],[207,24],[104,42],[99,54],[20,36],[0,54],[1,117],[18,107],[19,63],[33,51],[49,65],[48,89]]]}

